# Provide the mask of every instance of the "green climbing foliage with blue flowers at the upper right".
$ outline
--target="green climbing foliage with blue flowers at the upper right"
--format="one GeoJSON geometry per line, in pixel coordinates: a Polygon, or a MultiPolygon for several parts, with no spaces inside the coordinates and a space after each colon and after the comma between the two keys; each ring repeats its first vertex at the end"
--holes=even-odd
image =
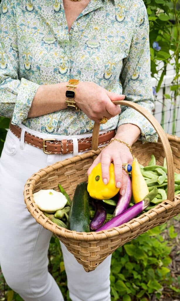
{"type": "Polygon", "coordinates": [[[180,11],[178,0],[144,0],[149,17],[149,40],[151,52],[152,77],[160,76],[156,92],[159,91],[167,64],[174,58],[176,75],[173,79],[175,97],[179,95],[179,48],[180,48],[180,11]],[[153,47],[153,42],[158,42],[161,49],[153,47]],[[161,70],[160,62],[164,62],[161,70]],[[157,71],[159,70],[159,71],[157,71]]]}

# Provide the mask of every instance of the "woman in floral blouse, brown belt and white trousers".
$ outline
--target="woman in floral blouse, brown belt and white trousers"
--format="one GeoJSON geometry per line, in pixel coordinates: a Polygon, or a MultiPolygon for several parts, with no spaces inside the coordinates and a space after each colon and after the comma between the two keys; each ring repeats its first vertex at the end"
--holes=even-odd
{"type": "MultiPolygon", "coordinates": [[[[132,163],[131,145],[157,140],[142,115],[112,103],[126,95],[149,111],[154,107],[148,17],[142,0],[2,0],[0,30],[0,114],[11,118],[0,160],[1,269],[25,301],[60,301],[47,270],[52,233],[25,208],[23,186],[38,169],[89,149],[95,121],[101,145],[115,129],[118,140],[88,174],[101,162],[107,183],[113,161],[116,186],[125,193],[122,163],[132,163]]],[[[70,298],[109,301],[111,256],[86,273],[61,248],[70,298]]]]}

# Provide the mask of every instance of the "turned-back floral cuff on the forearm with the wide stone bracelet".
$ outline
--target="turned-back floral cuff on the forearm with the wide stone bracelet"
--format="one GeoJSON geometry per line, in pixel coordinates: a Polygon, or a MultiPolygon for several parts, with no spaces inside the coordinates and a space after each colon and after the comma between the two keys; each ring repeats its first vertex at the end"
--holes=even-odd
{"type": "Polygon", "coordinates": [[[40,85],[25,78],[21,79],[18,87],[18,95],[14,106],[11,123],[19,125],[28,117],[33,98],[40,85]]]}

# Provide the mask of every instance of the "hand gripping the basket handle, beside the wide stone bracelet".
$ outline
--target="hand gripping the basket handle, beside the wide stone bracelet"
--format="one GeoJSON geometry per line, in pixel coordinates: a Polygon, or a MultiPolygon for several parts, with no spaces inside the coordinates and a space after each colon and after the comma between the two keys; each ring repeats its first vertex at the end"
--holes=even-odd
{"type": "Polygon", "coordinates": [[[77,106],[96,123],[105,116],[108,119],[121,112],[120,106],[112,101],[123,100],[125,95],[109,92],[94,82],[79,82],[76,87],[77,106]]]}

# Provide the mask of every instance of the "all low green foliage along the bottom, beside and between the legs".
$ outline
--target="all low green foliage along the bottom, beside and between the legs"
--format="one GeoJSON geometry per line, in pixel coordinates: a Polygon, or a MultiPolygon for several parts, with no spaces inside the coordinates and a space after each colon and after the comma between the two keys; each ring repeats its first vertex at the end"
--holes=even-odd
{"type": "MultiPolygon", "coordinates": [[[[175,219],[178,219],[176,217],[175,219]]],[[[152,293],[157,300],[160,298],[164,287],[179,295],[180,289],[177,280],[171,275],[168,266],[171,263],[171,249],[168,240],[164,241],[161,233],[167,224],[158,226],[141,234],[136,239],[117,249],[111,261],[111,301],[148,301],[152,293]]],[[[176,237],[174,226],[168,228],[170,239],[176,237]],[[173,235],[173,237],[172,237],[173,235]]],[[[64,269],[63,256],[57,237],[52,237],[49,246],[49,272],[55,278],[64,300],[71,301],[67,289],[67,278],[64,269]]],[[[6,291],[4,298],[7,301],[23,301],[4,282],[0,275],[0,291],[6,291]]],[[[168,291],[169,293],[170,291],[168,291]]]]}

